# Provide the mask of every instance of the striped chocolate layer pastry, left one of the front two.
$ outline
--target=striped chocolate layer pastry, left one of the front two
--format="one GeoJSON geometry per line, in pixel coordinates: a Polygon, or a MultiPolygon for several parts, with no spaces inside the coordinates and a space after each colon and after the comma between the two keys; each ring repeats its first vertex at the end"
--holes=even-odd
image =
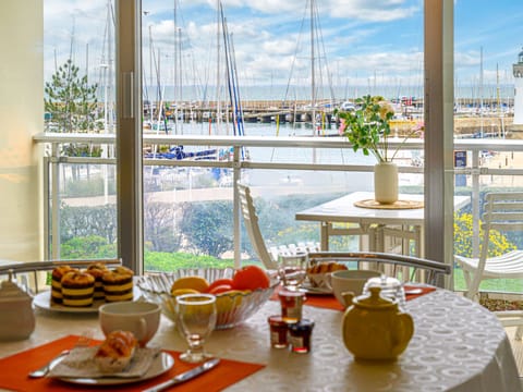
{"type": "Polygon", "coordinates": [[[95,294],[95,278],[86,272],[68,272],[62,278],[63,305],[92,306],[95,294]]]}

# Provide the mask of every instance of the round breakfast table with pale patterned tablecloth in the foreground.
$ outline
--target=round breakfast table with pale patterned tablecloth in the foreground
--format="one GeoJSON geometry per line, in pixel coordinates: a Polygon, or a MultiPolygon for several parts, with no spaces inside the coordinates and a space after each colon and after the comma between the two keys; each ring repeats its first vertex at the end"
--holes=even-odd
{"type": "MultiPolygon", "coordinates": [[[[343,307],[328,294],[306,296],[302,317],[314,321],[308,353],[271,347],[268,318],[281,314],[281,305],[273,296],[244,322],[212,331],[205,343],[209,353],[228,362],[230,375],[246,367],[248,371],[224,382],[226,376],[219,376],[220,367],[226,366],[223,363],[172,390],[204,390],[195,384],[200,379],[207,382],[206,392],[522,391],[509,339],[496,316],[454,292],[431,287],[406,302],[405,311],[414,319],[414,334],[406,350],[392,362],[355,360],[342,340],[343,307]]],[[[36,388],[38,381],[27,378],[27,369],[49,360],[51,348],[59,352],[66,342],[73,342],[71,336],[88,335],[99,341],[104,334],[96,311],[54,311],[37,306],[35,315],[36,328],[28,339],[0,342],[0,389],[104,390],[97,385],[85,389],[66,381],[36,388]],[[47,350],[47,357],[42,347],[47,350]],[[9,378],[14,382],[16,377],[20,384],[8,387],[9,378]]],[[[186,344],[174,322],[163,315],[148,345],[171,353],[174,367],[182,365],[178,353],[185,351],[186,344]]],[[[159,376],[149,382],[161,380],[165,379],[159,376]]],[[[133,384],[115,384],[111,390],[127,391],[130,385],[133,384]]],[[[141,385],[138,383],[137,390],[141,385]]]]}

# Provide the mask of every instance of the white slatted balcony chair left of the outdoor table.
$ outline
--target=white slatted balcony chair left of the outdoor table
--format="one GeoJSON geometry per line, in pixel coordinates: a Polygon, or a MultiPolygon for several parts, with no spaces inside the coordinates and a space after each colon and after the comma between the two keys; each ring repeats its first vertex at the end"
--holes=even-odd
{"type": "Polygon", "coordinates": [[[251,188],[242,183],[238,183],[238,189],[240,194],[240,209],[242,210],[243,221],[245,223],[245,230],[247,231],[248,238],[256,252],[259,260],[267,269],[278,269],[278,257],[295,257],[300,254],[306,254],[309,252],[316,252],[319,249],[318,243],[300,243],[271,246],[267,248],[262,231],[258,225],[258,216],[256,215],[256,208],[254,206],[253,197],[251,196],[251,188]]]}

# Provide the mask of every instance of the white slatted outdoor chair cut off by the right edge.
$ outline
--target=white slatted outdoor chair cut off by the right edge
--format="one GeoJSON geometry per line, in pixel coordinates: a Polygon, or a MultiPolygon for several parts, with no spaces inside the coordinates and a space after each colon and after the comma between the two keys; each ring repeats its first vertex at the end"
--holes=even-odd
{"type": "MultiPolygon", "coordinates": [[[[488,193],[485,196],[485,212],[483,215],[483,242],[479,257],[471,258],[454,256],[454,260],[463,269],[466,284],[466,297],[478,297],[479,284],[487,279],[521,279],[523,278],[523,250],[511,250],[504,255],[488,257],[494,231],[523,232],[523,193],[503,192],[488,193]]],[[[504,327],[520,326],[516,338],[523,332],[523,311],[496,311],[504,327]]]]}

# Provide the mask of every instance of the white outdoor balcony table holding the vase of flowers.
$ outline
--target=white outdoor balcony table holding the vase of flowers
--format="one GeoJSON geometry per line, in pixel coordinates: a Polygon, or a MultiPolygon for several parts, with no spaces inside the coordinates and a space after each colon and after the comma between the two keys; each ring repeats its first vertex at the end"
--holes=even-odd
{"type": "MultiPolygon", "coordinates": [[[[321,250],[329,250],[333,235],[360,235],[360,247],[372,252],[391,252],[386,245],[389,237],[400,240],[400,253],[424,257],[423,230],[425,220],[424,196],[400,194],[394,204],[379,205],[373,192],[352,192],[318,206],[297,211],[299,221],[318,222],[321,250]]],[[[454,210],[470,204],[469,196],[454,196],[454,210]]]]}

